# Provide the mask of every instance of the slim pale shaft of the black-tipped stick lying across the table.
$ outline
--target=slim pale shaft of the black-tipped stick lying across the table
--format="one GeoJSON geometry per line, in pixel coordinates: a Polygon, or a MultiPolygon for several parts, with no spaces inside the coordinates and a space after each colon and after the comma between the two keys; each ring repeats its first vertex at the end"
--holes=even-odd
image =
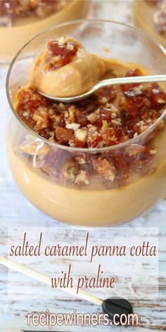
{"type": "MultiPolygon", "coordinates": [[[[13,262],[12,260],[8,260],[5,257],[0,256],[0,264],[4,265],[5,267],[8,267],[8,269],[13,269],[17,272],[20,272],[22,274],[25,274],[25,276],[30,276],[31,278],[34,278],[36,280],[39,280],[43,283],[46,283],[49,286],[52,286],[51,283],[51,277],[46,276],[45,274],[41,274],[37,271],[34,271],[33,269],[30,269],[29,267],[25,267],[25,265],[18,264],[16,262],[13,262]]],[[[89,302],[94,303],[95,305],[102,305],[103,300],[96,298],[93,295],[88,294],[87,292],[84,292],[83,290],[79,290],[79,293],[77,294],[77,288],[76,287],[68,287],[68,288],[61,288],[60,286],[57,287],[58,289],[65,290],[68,293],[71,293],[79,298],[82,298],[84,300],[87,300],[89,302]]]]}

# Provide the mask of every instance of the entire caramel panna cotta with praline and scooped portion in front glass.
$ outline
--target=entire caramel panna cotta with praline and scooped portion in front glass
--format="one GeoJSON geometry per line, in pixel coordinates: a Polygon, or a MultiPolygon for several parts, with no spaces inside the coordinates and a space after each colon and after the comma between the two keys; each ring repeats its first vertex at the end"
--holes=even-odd
{"type": "Polygon", "coordinates": [[[42,96],[39,91],[75,96],[104,78],[148,75],[135,58],[125,62],[92,53],[80,39],[46,39],[25,84],[13,83],[15,72],[12,79],[9,70],[14,115],[8,159],[21,191],[39,210],[70,224],[110,226],[139,217],[165,196],[165,87],[109,86],[75,103],[42,96]]]}

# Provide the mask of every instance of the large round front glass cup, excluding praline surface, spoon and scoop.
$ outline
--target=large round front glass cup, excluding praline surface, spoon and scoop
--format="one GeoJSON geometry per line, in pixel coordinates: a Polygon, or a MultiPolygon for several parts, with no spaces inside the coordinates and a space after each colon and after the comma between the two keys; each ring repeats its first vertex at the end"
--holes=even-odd
{"type": "MultiPolygon", "coordinates": [[[[34,133],[15,113],[14,97],[20,86],[26,86],[32,62],[46,42],[62,34],[72,34],[88,51],[103,58],[136,63],[151,74],[164,72],[162,46],[127,25],[82,20],[39,34],[20,50],[8,70],[7,150],[13,177],[32,204],[60,222],[92,227],[129,222],[165,196],[166,111],[139,136],[104,148],[72,148],[34,133]],[[96,160],[98,174],[91,170],[96,160]],[[115,174],[110,160],[117,166],[115,174]]],[[[162,87],[166,89],[166,84],[162,87]]]]}

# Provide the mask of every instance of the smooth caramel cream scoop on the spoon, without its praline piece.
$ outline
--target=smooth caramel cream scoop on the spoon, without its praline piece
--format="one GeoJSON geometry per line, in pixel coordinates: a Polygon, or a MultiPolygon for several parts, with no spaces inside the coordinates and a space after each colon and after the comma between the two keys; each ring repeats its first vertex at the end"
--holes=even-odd
{"type": "MultiPolygon", "coordinates": [[[[70,38],[71,40],[79,44],[79,41],[70,38]]],[[[79,44],[79,49],[72,62],[63,67],[49,70],[47,57],[48,48],[46,46],[32,65],[30,87],[48,96],[70,97],[84,94],[94,87],[106,72],[103,60],[88,53],[81,44],[79,44]]]]}

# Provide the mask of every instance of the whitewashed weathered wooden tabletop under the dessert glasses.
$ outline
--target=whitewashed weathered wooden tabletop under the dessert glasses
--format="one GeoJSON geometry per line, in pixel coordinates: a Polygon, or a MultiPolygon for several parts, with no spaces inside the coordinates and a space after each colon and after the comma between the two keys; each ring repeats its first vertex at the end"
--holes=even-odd
{"type": "MultiPolygon", "coordinates": [[[[130,0],[112,1],[96,0],[91,11],[91,18],[105,18],[132,23],[130,0]]],[[[61,226],[51,218],[41,214],[23,197],[15,185],[11,172],[8,169],[5,148],[5,131],[8,113],[8,105],[5,93],[5,78],[7,68],[0,68],[0,245],[1,252],[5,255],[4,245],[7,240],[6,227],[9,226],[61,226]]],[[[155,190],[155,189],[154,189],[155,190]]],[[[135,300],[134,310],[141,315],[139,327],[128,328],[129,331],[166,331],[166,200],[159,203],[148,215],[141,217],[127,226],[158,226],[159,228],[159,298],[158,300],[135,300]]],[[[63,226],[68,241],[68,232],[72,228],[63,226]]],[[[102,231],[103,240],[106,238],[106,231],[102,231]]],[[[101,236],[101,231],[98,231],[101,236]]],[[[81,238],[80,238],[81,240],[81,238]]],[[[75,299],[70,295],[58,295],[56,300],[7,300],[7,269],[0,266],[0,331],[20,331],[27,329],[25,317],[27,312],[42,312],[50,309],[53,312],[69,312],[77,307],[77,312],[93,313],[98,311],[95,305],[91,305],[84,300],[75,299]]],[[[19,285],[18,285],[19,286],[19,285]]],[[[34,284],[35,286],[35,284],[34,284]]],[[[96,327],[97,328],[97,327],[96,327]]],[[[111,327],[115,331],[115,327],[111,327]]],[[[39,331],[39,329],[35,329],[39,331]]],[[[45,330],[44,330],[45,331],[45,330]]],[[[83,331],[82,327],[58,328],[55,331],[83,331]]],[[[94,327],[84,328],[84,331],[94,331],[94,327]]],[[[98,331],[110,331],[110,327],[99,327],[98,331]]],[[[118,331],[124,331],[124,327],[119,327],[118,331]]]]}

